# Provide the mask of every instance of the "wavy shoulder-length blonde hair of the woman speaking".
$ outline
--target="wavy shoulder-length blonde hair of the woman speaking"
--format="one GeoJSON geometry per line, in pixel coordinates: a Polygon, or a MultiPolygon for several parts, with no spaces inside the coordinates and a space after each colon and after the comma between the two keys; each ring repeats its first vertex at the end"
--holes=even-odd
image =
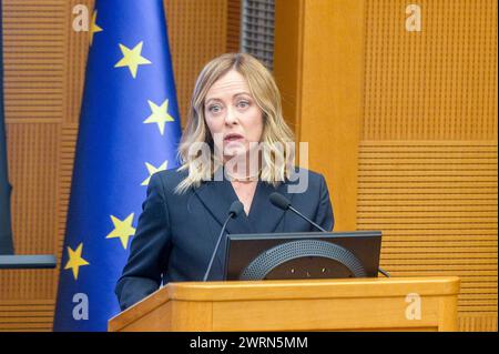
{"type": "Polygon", "coordinates": [[[254,57],[246,53],[226,53],[210,61],[197,77],[187,112],[187,123],[179,146],[179,159],[182,165],[179,171],[189,171],[175,189],[183,193],[190,188],[197,188],[203,181],[212,180],[215,171],[223,162],[215,158],[213,136],[204,117],[204,101],[211,87],[225,73],[236,70],[242,74],[251,94],[263,112],[263,132],[261,142],[262,170],[259,180],[274,186],[289,178],[294,165],[294,149],[279,149],[294,142],[294,133],[283,118],[281,93],[272,73],[254,57]],[[210,145],[210,163],[197,163],[200,155],[192,155],[190,149],[206,143],[210,145]],[[196,162],[197,161],[197,162],[196,162]]]}

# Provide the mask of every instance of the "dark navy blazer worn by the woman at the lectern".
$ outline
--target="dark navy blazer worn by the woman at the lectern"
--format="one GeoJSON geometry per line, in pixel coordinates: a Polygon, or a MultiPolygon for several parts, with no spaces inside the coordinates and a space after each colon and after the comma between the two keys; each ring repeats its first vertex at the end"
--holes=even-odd
{"type": "MultiPolygon", "coordinates": [[[[304,170],[302,170],[304,171],[304,170]]],[[[115,293],[122,310],[156,291],[161,283],[201,281],[215,249],[228,208],[237,200],[230,181],[203,182],[184,194],[174,189],[186,176],[176,170],[153,174],[130,256],[115,293]]],[[[230,234],[317,231],[291,211],[274,206],[268,196],[278,192],[293,206],[326,230],[333,230],[333,208],[323,175],[308,171],[304,193],[288,193],[289,182],[277,188],[258,182],[249,209],[231,220],[230,234]]],[[[208,280],[222,280],[225,259],[221,243],[208,280]]]]}

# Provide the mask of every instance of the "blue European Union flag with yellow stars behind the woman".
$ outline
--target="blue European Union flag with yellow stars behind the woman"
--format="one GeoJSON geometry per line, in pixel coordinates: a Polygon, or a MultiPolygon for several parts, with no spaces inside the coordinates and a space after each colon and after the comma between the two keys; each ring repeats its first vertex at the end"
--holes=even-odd
{"type": "Polygon", "coordinates": [[[105,331],[150,176],[180,140],[162,0],[96,1],[54,331],[105,331]]]}

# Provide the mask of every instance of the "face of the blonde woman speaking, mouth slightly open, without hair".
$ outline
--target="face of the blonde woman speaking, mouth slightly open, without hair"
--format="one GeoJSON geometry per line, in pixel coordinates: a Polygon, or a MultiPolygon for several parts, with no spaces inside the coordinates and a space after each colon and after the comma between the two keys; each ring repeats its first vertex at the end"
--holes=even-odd
{"type": "Polygon", "coordinates": [[[251,142],[261,141],[263,112],[251,95],[246,80],[234,69],[210,88],[204,117],[224,159],[244,155],[251,142]]]}

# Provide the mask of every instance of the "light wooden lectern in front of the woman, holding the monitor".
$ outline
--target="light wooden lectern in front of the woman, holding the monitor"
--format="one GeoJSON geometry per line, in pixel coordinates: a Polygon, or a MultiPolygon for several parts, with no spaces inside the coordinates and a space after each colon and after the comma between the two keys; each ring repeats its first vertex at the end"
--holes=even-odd
{"type": "Polygon", "coordinates": [[[170,283],[110,331],[457,331],[459,279],[170,283]]]}

